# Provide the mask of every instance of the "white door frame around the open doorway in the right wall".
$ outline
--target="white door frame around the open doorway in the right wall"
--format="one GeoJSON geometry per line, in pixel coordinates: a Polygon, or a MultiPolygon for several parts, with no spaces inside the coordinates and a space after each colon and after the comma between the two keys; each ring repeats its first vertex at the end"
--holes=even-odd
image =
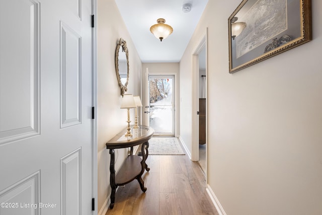
{"type": "MultiPolygon", "coordinates": [[[[192,151],[191,151],[191,160],[199,161],[199,120],[197,111],[199,110],[199,53],[201,50],[206,47],[206,77],[208,77],[208,51],[207,51],[207,39],[208,39],[208,28],[206,29],[205,34],[202,36],[200,42],[198,43],[195,51],[192,55],[192,151]]],[[[206,79],[206,97],[208,96],[208,79],[206,79]]],[[[208,99],[206,99],[206,110],[208,110],[208,99]]],[[[206,115],[206,142],[208,142],[208,121],[206,115]]],[[[208,156],[208,147],[206,147],[206,176],[208,175],[208,165],[207,165],[207,156],[208,156]]],[[[207,180],[207,177],[206,177],[207,180]]]]}

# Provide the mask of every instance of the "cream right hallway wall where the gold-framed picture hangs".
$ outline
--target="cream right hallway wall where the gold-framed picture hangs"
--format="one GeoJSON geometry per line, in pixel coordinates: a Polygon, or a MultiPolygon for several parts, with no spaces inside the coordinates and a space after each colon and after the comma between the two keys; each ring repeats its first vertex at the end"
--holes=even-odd
{"type": "Polygon", "coordinates": [[[313,40],[228,74],[227,19],[209,1],[180,63],[180,136],[191,150],[191,55],[208,28],[208,183],[229,215],[322,214],[322,2],[313,40]]]}

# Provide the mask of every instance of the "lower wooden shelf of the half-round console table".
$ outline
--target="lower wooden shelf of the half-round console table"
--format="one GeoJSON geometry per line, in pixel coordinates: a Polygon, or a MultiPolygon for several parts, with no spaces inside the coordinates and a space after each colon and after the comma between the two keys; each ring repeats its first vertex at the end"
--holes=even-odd
{"type": "Polygon", "coordinates": [[[142,170],[141,161],[139,156],[129,155],[115,177],[116,185],[124,185],[136,179],[142,170]]]}

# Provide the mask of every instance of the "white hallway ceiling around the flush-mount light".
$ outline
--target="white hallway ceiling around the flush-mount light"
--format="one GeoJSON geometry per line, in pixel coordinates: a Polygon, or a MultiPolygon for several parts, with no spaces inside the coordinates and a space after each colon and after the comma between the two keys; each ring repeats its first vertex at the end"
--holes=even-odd
{"type": "MultiPolygon", "coordinates": [[[[115,0],[142,62],[179,62],[208,0],[115,0]],[[192,4],[184,13],[182,6],[192,4]],[[162,42],[150,32],[164,18],[173,33],[162,42]]],[[[126,40],[126,38],[123,38],[126,40]]]]}

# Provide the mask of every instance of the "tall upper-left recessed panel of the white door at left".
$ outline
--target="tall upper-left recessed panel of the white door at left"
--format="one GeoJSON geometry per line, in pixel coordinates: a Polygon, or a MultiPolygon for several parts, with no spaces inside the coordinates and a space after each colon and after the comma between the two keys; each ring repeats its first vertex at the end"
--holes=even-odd
{"type": "Polygon", "coordinates": [[[40,132],[38,20],[39,3],[1,0],[0,145],[40,132]]]}

